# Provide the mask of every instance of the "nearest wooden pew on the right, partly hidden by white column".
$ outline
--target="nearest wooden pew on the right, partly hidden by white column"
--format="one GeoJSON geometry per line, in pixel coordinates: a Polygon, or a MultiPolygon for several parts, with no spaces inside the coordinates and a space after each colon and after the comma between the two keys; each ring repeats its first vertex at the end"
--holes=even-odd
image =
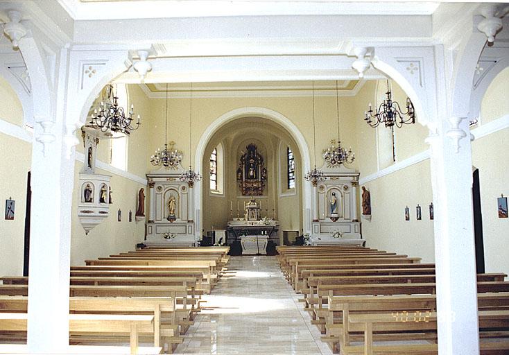
{"type": "MultiPolygon", "coordinates": [[[[479,328],[486,329],[509,329],[509,311],[479,311],[479,328]]],[[[373,345],[373,332],[394,332],[394,331],[436,331],[437,318],[436,313],[432,312],[426,315],[426,320],[402,321],[397,320],[390,313],[372,313],[372,314],[352,314],[349,318],[350,331],[362,331],[364,334],[364,345],[345,345],[342,348],[345,355],[374,355],[374,354],[437,354],[435,344],[424,344],[419,347],[415,345],[373,345]]],[[[481,343],[482,346],[483,343],[481,343]]],[[[509,341],[500,342],[497,345],[500,351],[509,352],[509,341]]],[[[482,352],[481,352],[482,354],[482,352]]],[[[504,354],[504,352],[501,352],[504,354]]]]}

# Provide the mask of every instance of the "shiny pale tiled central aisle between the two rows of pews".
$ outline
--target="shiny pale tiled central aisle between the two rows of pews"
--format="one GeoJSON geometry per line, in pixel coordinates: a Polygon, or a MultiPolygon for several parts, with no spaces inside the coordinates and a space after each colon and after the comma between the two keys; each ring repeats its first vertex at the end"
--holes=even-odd
{"type": "Polygon", "coordinates": [[[275,257],[232,257],[175,354],[332,354],[275,257]]]}

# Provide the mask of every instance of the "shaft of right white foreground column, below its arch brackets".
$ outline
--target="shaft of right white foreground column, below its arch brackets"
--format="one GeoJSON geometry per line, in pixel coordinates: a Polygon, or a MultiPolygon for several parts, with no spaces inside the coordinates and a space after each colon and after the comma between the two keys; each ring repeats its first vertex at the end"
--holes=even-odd
{"type": "Polygon", "coordinates": [[[442,122],[431,145],[431,181],[435,207],[435,265],[438,354],[478,354],[476,257],[472,217],[472,152],[467,132],[456,153],[442,122]]]}

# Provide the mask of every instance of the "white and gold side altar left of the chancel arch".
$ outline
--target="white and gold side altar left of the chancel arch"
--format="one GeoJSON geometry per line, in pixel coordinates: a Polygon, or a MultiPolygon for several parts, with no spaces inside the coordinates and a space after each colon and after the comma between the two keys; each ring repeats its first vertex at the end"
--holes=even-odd
{"type": "Polygon", "coordinates": [[[148,222],[146,244],[194,245],[192,189],[180,181],[183,171],[147,174],[148,222]]]}

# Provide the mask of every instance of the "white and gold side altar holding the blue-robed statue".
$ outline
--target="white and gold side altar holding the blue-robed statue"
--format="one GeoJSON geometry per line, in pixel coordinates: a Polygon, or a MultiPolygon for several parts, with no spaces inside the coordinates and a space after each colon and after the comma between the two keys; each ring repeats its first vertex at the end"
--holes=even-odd
{"type": "Polygon", "coordinates": [[[316,187],[317,217],[313,220],[313,236],[315,245],[356,243],[363,245],[361,223],[359,222],[359,173],[344,166],[339,168],[322,167],[327,180],[316,187]],[[340,232],[340,238],[332,234],[340,232]]]}

